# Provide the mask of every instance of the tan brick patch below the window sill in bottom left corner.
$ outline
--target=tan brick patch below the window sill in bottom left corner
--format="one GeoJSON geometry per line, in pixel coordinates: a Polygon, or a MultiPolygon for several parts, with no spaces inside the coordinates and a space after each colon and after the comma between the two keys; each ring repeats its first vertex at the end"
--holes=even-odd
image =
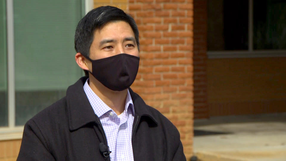
{"type": "Polygon", "coordinates": [[[0,161],[16,160],[20,151],[20,140],[0,141],[0,161]]]}

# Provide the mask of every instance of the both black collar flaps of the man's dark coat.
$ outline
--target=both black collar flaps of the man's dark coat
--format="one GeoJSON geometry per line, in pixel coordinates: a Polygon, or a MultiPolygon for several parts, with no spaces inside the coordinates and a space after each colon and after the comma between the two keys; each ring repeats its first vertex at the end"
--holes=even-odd
{"type": "MultiPolygon", "coordinates": [[[[66,91],[67,112],[69,115],[69,129],[71,131],[77,130],[80,127],[97,122],[99,118],[94,111],[86,97],[83,90],[84,83],[88,77],[80,78],[76,83],[69,86],[66,91]]],[[[135,114],[139,117],[147,116],[154,123],[157,124],[152,112],[147,107],[142,98],[129,88],[129,92],[133,101],[135,114]]]]}

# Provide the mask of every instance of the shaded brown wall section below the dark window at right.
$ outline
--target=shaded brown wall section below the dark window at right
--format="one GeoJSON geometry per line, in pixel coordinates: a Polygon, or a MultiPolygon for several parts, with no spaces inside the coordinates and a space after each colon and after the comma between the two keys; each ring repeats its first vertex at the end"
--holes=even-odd
{"type": "Polygon", "coordinates": [[[286,112],[286,57],[208,59],[210,116],[286,112]]]}

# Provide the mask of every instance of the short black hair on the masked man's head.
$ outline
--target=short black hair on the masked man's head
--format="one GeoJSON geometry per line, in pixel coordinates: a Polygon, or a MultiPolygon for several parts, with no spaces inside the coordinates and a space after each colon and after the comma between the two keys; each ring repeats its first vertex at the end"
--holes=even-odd
{"type": "MultiPolygon", "coordinates": [[[[111,21],[125,21],[133,30],[139,50],[139,31],[132,16],[112,6],[101,6],[89,11],[77,24],[74,35],[74,48],[84,57],[89,57],[89,49],[93,41],[94,31],[111,21]]],[[[84,70],[86,76],[88,71],[84,70]]]]}

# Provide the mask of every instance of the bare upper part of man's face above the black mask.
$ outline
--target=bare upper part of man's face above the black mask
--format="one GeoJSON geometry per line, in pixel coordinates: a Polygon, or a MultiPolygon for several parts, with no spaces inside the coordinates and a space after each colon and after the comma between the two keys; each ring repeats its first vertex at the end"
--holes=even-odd
{"type": "MultiPolygon", "coordinates": [[[[125,21],[109,22],[101,29],[95,30],[89,53],[89,58],[93,60],[121,53],[139,57],[133,30],[125,21]]],[[[91,69],[90,63],[88,68],[91,69]]]]}

